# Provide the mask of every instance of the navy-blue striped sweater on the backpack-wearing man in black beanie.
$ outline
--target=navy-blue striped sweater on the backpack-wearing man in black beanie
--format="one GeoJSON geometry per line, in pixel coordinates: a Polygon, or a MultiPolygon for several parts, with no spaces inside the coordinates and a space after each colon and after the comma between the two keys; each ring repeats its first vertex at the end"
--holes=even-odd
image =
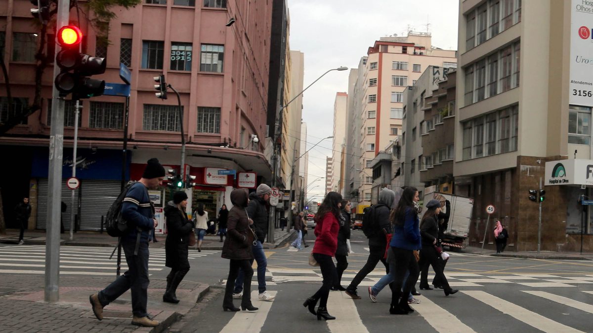
{"type": "MultiPolygon", "coordinates": [[[[132,226],[142,230],[141,241],[148,242],[152,239],[154,211],[148,197],[148,190],[141,182],[136,182],[127,191],[126,197],[122,201],[122,216],[132,226]]],[[[136,242],[137,234],[138,230],[133,228],[123,239],[136,242]]]]}

